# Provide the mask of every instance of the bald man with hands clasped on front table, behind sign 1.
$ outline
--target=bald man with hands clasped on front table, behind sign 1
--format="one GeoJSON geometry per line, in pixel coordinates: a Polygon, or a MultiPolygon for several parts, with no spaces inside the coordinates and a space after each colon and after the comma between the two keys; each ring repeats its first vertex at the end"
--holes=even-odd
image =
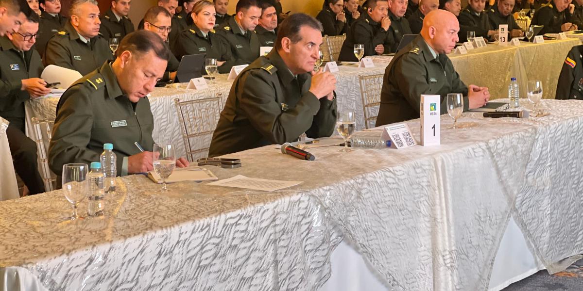
{"type": "Polygon", "coordinates": [[[441,113],[447,112],[448,93],[462,93],[463,109],[487,104],[486,87],[466,87],[448,54],[458,41],[459,24],[445,10],[434,10],[423,20],[421,35],[399,51],[385,70],[377,126],[419,118],[420,96],[441,95],[441,113]]]}

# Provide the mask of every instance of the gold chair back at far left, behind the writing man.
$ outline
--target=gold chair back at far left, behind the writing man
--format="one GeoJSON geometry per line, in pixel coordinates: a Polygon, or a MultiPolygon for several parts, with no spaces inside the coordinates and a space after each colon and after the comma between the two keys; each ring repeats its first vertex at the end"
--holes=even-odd
{"type": "Polygon", "coordinates": [[[37,144],[38,152],[38,168],[40,170],[41,178],[43,178],[44,190],[52,191],[55,190],[55,183],[57,181],[57,175],[48,168],[48,156],[47,148],[48,143],[52,138],[52,126],[55,120],[39,120],[36,117],[31,118],[33,123],[33,135],[30,136],[37,144]]]}

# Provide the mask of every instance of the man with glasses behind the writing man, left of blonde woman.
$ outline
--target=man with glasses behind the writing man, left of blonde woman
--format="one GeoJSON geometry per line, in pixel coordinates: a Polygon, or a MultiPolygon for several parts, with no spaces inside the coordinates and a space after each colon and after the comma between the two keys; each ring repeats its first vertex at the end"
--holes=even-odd
{"type": "MultiPolygon", "coordinates": [[[[152,31],[160,36],[164,42],[168,42],[168,32],[172,28],[172,16],[168,10],[161,6],[150,7],[146,11],[143,21],[142,29],[152,31]]],[[[178,59],[173,54],[170,54],[164,77],[162,77],[157,86],[164,86],[174,81],[178,65],[180,65],[178,59]]]]}

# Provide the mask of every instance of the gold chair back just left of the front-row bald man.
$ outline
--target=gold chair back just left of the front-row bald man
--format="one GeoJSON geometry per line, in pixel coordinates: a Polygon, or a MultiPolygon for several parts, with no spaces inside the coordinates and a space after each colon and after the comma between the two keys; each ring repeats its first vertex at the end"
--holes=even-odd
{"type": "Polygon", "coordinates": [[[378,108],[381,104],[382,77],[384,74],[370,76],[359,75],[360,96],[363,100],[364,126],[374,127],[377,121],[378,108]]]}

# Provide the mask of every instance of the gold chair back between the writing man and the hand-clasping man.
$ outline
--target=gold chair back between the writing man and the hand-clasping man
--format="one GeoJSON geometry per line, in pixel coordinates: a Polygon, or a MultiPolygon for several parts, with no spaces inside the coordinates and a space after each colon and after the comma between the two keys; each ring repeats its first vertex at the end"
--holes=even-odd
{"type": "Polygon", "coordinates": [[[223,111],[222,94],[183,102],[176,98],[174,105],[188,161],[208,157],[210,140],[219,122],[220,112],[223,111]]]}

